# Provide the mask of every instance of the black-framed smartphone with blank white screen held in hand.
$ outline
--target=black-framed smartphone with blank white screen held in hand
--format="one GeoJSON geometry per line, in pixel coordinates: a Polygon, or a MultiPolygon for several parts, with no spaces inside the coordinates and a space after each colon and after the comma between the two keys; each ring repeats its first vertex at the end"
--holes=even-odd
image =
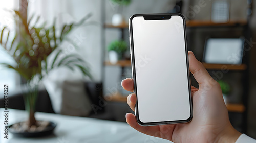
{"type": "Polygon", "coordinates": [[[189,122],[193,109],[184,17],[136,14],[130,17],[129,33],[137,122],[189,122]]]}

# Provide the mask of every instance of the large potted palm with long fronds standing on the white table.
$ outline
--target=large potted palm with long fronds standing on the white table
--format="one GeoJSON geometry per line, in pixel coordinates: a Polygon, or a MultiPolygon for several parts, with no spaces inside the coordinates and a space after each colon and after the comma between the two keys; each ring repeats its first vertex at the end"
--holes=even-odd
{"type": "Polygon", "coordinates": [[[24,102],[29,114],[28,120],[9,127],[10,131],[12,130],[15,134],[20,133],[29,136],[28,133],[42,132],[51,124],[51,122],[37,121],[34,116],[38,84],[51,70],[61,66],[71,70],[78,68],[84,76],[91,77],[88,67],[79,55],[65,55],[59,48],[63,41],[76,46],[67,35],[75,27],[82,25],[91,15],[87,15],[77,23],[63,25],[61,32],[57,33],[55,20],[50,27],[46,27],[46,23],[36,26],[40,19],[39,16],[36,18],[35,24],[32,25],[30,21],[34,19],[34,16],[27,20],[19,11],[14,12],[18,30],[15,32],[15,37],[11,39],[9,38],[10,30],[8,27],[4,27],[1,31],[0,44],[2,47],[0,47],[10,54],[16,64],[0,63],[0,65],[15,70],[27,81],[28,92],[24,94],[24,102]],[[7,36],[4,36],[4,33],[7,36]],[[50,55],[54,57],[51,61],[48,60],[50,55]]]}

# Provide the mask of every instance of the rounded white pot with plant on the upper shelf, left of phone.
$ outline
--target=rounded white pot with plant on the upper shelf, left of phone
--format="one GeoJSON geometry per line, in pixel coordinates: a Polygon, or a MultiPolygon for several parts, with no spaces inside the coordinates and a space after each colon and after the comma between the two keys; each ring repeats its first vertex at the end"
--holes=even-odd
{"type": "Polygon", "coordinates": [[[118,5],[118,13],[112,16],[112,25],[113,26],[122,25],[122,23],[125,22],[122,15],[123,7],[129,5],[132,2],[132,0],[111,0],[111,1],[115,5],[118,5]]]}

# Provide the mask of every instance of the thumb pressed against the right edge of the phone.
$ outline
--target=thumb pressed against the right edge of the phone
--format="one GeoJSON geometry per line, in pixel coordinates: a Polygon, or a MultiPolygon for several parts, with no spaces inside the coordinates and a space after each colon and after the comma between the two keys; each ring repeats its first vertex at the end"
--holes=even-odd
{"type": "Polygon", "coordinates": [[[203,64],[198,61],[193,52],[188,51],[189,70],[197,80],[198,84],[208,83],[213,80],[203,64]]]}

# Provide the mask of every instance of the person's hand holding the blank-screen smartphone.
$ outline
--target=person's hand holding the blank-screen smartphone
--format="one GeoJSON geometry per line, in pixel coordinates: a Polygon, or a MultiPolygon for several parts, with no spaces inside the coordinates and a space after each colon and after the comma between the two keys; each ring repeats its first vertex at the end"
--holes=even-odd
{"type": "MultiPolygon", "coordinates": [[[[189,70],[199,84],[199,89],[191,86],[193,119],[184,124],[144,127],[137,123],[134,114],[127,113],[126,122],[139,132],[173,142],[236,142],[241,133],[229,121],[220,85],[190,51],[188,60],[189,70]]],[[[127,78],[121,84],[125,90],[133,92],[133,79],[127,78]]],[[[127,97],[133,111],[136,100],[135,93],[127,97]]]]}

